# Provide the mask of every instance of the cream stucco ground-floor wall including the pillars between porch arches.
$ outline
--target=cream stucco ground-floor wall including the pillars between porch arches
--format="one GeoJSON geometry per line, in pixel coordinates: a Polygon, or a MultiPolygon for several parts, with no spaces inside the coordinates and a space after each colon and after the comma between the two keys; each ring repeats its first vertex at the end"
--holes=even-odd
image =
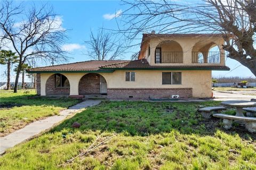
{"type": "MultiPolygon", "coordinates": [[[[127,70],[128,71],[128,70],[127,70]]],[[[135,72],[135,81],[125,81],[125,70],[115,71],[113,73],[99,73],[107,81],[108,89],[118,88],[192,88],[193,97],[205,98],[211,97],[211,71],[176,71],[182,72],[182,84],[171,85],[162,84],[162,72],[161,70],[131,70],[135,72]]],[[[62,73],[65,75],[70,83],[70,95],[78,95],[78,85],[81,78],[86,73],[62,73]]],[[[53,73],[41,73],[41,95],[45,96],[45,85],[47,79],[51,77],[53,73]]]]}

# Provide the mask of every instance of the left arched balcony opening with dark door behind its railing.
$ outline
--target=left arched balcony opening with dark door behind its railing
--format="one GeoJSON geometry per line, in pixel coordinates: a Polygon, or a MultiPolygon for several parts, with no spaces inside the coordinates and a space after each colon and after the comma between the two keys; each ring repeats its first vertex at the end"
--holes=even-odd
{"type": "Polygon", "coordinates": [[[162,41],[155,49],[155,63],[183,63],[183,50],[176,41],[162,41]]]}

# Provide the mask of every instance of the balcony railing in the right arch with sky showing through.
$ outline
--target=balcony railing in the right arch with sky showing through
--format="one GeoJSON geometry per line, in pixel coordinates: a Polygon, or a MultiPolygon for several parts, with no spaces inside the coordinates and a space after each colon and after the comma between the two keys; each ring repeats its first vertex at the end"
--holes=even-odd
{"type": "Polygon", "coordinates": [[[192,52],[192,63],[220,63],[220,52],[192,52]]]}

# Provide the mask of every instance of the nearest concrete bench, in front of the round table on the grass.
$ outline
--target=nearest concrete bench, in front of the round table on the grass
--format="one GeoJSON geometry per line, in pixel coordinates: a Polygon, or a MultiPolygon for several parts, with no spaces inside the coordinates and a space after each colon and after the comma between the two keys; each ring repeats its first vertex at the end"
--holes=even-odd
{"type": "Polygon", "coordinates": [[[243,116],[233,116],[226,114],[213,114],[213,117],[223,118],[224,128],[230,129],[232,127],[233,120],[245,122],[245,128],[251,132],[256,132],[256,117],[243,117],[243,116]]]}

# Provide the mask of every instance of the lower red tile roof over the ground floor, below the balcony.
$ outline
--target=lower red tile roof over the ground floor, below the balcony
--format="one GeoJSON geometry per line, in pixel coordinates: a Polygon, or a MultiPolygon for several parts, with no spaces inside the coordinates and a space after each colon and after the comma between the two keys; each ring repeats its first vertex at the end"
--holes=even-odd
{"type": "Polygon", "coordinates": [[[53,65],[45,67],[37,67],[29,69],[28,72],[47,72],[47,71],[106,71],[106,70],[229,70],[227,66],[221,65],[149,65],[146,59],[127,61],[127,60],[113,60],[113,61],[85,61],[78,63],[53,65]]]}

